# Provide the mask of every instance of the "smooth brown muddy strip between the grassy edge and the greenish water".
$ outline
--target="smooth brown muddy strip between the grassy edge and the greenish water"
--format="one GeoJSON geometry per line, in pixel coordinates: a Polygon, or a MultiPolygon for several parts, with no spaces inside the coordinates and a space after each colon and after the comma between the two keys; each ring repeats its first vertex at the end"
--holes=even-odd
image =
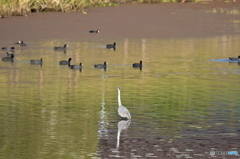
{"type": "Polygon", "coordinates": [[[0,19],[0,43],[58,38],[88,40],[233,35],[240,33],[239,9],[239,2],[212,2],[124,4],[89,8],[88,14],[32,13],[28,17],[0,19]],[[226,13],[214,12],[219,8],[224,8],[226,13]],[[100,33],[97,36],[89,34],[91,29],[99,29],[100,33]]]}

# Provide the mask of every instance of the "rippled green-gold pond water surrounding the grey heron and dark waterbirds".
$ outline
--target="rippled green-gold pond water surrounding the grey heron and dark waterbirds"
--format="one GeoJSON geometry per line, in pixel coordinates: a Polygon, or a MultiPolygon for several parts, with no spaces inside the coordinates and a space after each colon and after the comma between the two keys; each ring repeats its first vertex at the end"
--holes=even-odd
{"type": "MultiPolygon", "coordinates": [[[[29,41],[0,62],[0,158],[208,158],[239,150],[240,36],[29,41]],[[68,44],[66,52],[54,46],[68,44]],[[43,58],[43,65],[31,59],[43,58]],[[72,58],[83,69],[59,61],[72,58]],[[132,63],[143,61],[143,68],[132,63]],[[108,62],[107,70],[94,64],[108,62]],[[117,89],[132,115],[121,121],[117,89]]],[[[1,57],[5,52],[1,51],[1,57]]],[[[239,151],[240,152],[240,151],[239,151]]]]}

